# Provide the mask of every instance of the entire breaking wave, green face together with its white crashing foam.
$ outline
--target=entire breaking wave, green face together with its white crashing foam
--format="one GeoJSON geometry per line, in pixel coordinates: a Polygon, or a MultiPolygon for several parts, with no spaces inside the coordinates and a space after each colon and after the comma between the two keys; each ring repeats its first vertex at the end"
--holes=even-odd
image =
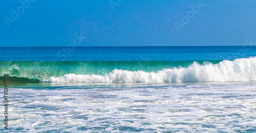
{"type": "Polygon", "coordinates": [[[256,57],[233,61],[0,61],[0,79],[17,83],[256,81],[256,57]]]}

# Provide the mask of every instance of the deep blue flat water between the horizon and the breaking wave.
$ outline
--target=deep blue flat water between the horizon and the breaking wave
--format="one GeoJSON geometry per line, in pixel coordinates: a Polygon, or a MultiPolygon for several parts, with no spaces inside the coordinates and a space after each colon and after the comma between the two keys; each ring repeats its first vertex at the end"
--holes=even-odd
{"type": "Polygon", "coordinates": [[[2,61],[188,61],[256,56],[250,46],[0,47],[2,61]]]}

